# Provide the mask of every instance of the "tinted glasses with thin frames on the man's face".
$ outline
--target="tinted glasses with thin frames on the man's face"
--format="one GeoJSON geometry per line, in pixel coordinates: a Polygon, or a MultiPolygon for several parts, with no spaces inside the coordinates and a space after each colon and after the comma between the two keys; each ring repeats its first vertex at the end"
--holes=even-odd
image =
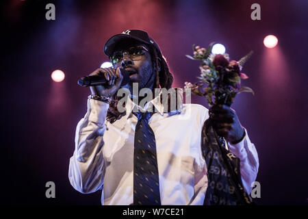
{"type": "Polygon", "coordinates": [[[125,49],[123,51],[116,51],[110,56],[110,60],[112,64],[116,64],[118,62],[121,62],[123,60],[124,54],[126,53],[127,56],[133,60],[141,60],[142,55],[144,55],[146,52],[149,52],[149,49],[146,49],[146,47],[143,46],[135,46],[130,47],[129,49],[125,49]]]}

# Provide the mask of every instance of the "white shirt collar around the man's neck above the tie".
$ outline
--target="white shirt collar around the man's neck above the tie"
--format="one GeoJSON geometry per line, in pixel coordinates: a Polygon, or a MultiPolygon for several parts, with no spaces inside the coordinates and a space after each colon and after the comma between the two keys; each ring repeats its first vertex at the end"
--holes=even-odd
{"type": "Polygon", "coordinates": [[[133,109],[135,107],[137,107],[138,110],[140,110],[141,112],[145,112],[149,110],[152,107],[152,105],[154,105],[156,112],[158,112],[161,116],[164,116],[164,113],[168,113],[169,116],[181,113],[181,110],[183,109],[183,95],[179,95],[180,96],[179,109],[168,112],[168,109],[165,109],[164,104],[162,104],[160,101],[161,96],[162,96],[161,94],[162,94],[162,91],[159,92],[159,94],[154,99],[146,103],[146,105],[144,105],[144,108],[134,103],[129,96],[127,98],[127,103],[125,104],[126,117],[129,118],[131,114],[133,114],[133,109]]]}

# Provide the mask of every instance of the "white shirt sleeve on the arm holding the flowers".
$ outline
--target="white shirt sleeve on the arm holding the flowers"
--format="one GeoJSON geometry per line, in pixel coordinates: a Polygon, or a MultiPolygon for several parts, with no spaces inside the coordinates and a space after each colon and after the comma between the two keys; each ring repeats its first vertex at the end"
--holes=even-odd
{"type": "Polygon", "coordinates": [[[229,149],[236,157],[240,159],[240,172],[244,189],[248,194],[251,193],[251,183],[257,178],[259,169],[259,158],[255,144],[251,142],[248,133],[245,130],[245,137],[238,144],[228,142],[229,149]]]}

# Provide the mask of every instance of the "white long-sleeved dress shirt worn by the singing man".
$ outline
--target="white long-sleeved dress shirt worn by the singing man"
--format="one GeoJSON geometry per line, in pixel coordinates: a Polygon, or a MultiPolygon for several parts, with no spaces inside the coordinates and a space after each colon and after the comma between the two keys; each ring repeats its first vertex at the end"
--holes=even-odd
{"type": "MultiPolygon", "coordinates": [[[[209,118],[207,108],[183,104],[179,112],[166,113],[157,98],[151,103],[158,110],[149,125],[155,133],[162,205],[203,205],[207,166],[201,152],[201,130],[209,118]]],[[[140,107],[128,99],[126,115],[111,124],[105,119],[109,104],[88,99],[88,111],[77,125],[68,178],[79,192],[102,190],[102,205],[133,203],[134,106],[140,107]]],[[[240,158],[242,183],[250,193],[259,168],[255,146],[247,132],[242,142],[228,144],[240,158]]]]}

